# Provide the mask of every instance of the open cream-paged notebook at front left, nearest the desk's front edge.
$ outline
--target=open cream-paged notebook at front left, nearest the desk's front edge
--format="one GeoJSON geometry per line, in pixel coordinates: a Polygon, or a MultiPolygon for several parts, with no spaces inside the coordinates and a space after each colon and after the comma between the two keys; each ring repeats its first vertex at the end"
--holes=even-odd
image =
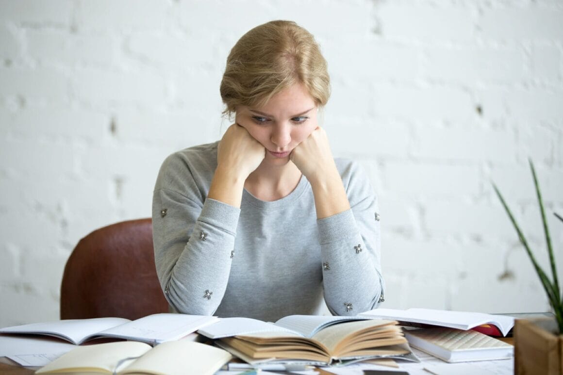
{"type": "Polygon", "coordinates": [[[36,373],[212,375],[232,358],[223,349],[189,340],[154,348],[144,342],[120,341],[78,346],[36,373]]]}

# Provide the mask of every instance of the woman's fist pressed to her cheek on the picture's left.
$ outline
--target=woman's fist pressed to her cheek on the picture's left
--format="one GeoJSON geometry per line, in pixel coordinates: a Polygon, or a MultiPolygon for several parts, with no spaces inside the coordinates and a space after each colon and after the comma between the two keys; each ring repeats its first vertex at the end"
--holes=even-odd
{"type": "Polygon", "coordinates": [[[266,149],[239,124],[232,124],[219,142],[217,169],[236,173],[246,180],[260,166],[266,149]]]}

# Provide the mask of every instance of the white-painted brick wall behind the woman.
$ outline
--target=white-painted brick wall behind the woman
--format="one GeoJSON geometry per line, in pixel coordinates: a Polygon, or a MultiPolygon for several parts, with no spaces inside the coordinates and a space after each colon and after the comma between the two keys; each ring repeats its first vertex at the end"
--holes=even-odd
{"type": "Polygon", "coordinates": [[[548,309],[491,181],[547,266],[534,160],[563,277],[560,0],[0,0],[0,326],[57,319],[78,240],[150,216],[164,157],[220,137],[225,58],[272,19],[329,62],[323,123],[377,190],[385,306],[548,309]]]}

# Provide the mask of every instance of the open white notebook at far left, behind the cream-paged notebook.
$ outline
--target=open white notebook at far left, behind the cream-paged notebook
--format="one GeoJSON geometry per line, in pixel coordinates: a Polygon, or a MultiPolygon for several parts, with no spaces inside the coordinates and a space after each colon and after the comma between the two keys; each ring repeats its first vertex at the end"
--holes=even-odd
{"type": "Polygon", "coordinates": [[[215,316],[162,313],[136,320],[92,318],[32,323],[2,328],[0,333],[45,334],[62,338],[75,345],[101,337],[141,341],[154,345],[178,340],[218,320],[215,316]]]}

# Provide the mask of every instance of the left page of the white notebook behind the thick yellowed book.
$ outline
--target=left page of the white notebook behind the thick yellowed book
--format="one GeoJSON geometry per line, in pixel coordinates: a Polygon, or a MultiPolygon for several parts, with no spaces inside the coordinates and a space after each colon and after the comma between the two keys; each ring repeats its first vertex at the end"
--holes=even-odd
{"type": "MultiPolygon", "coordinates": [[[[272,323],[251,318],[222,318],[219,322],[198,329],[198,333],[209,338],[221,338],[258,332],[293,332],[272,323]]],[[[295,333],[295,332],[294,332],[295,333]]]]}

